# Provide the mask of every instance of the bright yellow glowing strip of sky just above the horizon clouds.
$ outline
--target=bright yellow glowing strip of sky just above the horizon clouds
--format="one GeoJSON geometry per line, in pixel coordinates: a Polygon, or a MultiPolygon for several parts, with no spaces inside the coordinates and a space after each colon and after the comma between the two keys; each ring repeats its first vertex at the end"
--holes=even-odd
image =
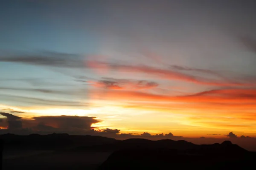
{"type": "MultiPolygon", "coordinates": [[[[19,113],[18,116],[31,118],[33,116],[90,116],[96,117],[100,122],[95,123],[92,127],[97,129],[119,129],[120,133],[137,133],[148,132],[151,134],[173,133],[175,136],[201,137],[207,134],[220,133],[227,134],[230,131],[236,131],[237,135],[256,133],[256,128],[252,125],[243,125],[240,119],[227,116],[208,116],[201,112],[191,111],[162,111],[158,108],[151,110],[142,110],[142,108],[124,108],[122,105],[102,105],[83,109],[63,109],[63,108],[18,108],[7,105],[0,105],[1,109],[10,108],[15,111],[23,111],[26,114],[19,113]],[[227,120],[232,119],[233,124],[227,120]],[[235,121],[236,120],[236,121],[235,121]],[[158,122],[161,122],[159,124],[158,122]],[[196,132],[196,133],[195,133],[196,132]],[[247,133],[243,133],[247,132],[247,133]]],[[[253,121],[253,120],[252,120],[253,121]]],[[[250,121],[249,121],[250,122],[250,121]]],[[[255,127],[255,126],[254,126],[255,127]]],[[[219,136],[214,136],[219,137],[219,136]]],[[[221,136],[220,136],[221,137],[221,136]]]]}

